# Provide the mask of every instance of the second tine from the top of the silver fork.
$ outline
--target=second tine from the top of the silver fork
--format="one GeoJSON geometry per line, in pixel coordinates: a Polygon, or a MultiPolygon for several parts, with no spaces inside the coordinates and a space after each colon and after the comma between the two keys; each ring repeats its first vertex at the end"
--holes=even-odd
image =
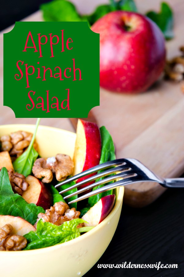
{"type": "Polygon", "coordinates": [[[109,174],[115,173],[117,171],[124,171],[125,172],[125,171],[129,171],[129,170],[131,170],[131,168],[129,168],[129,167],[125,168],[125,166],[110,168],[110,169],[105,170],[103,172],[100,172],[100,173],[98,173],[98,174],[96,174],[94,176],[91,176],[91,177],[89,177],[89,178],[87,178],[87,179],[85,179],[85,180],[83,180],[83,181],[81,181],[79,183],[76,183],[75,185],[73,185],[71,187],[68,187],[68,188],[64,189],[63,191],[60,191],[59,194],[63,194],[65,192],[67,192],[67,191],[70,191],[73,188],[80,187],[81,185],[84,185],[86,183],[94,181],[94,180],[96,180],[96,179],[98,179],[100,177],[104,177],[104,176],[107,176],[109,174]]]}

